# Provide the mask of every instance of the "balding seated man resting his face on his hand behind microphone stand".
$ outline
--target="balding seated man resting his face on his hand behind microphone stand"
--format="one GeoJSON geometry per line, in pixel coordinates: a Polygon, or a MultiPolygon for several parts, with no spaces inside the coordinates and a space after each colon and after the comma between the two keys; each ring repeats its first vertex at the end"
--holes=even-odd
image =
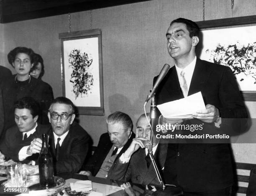
{"type": "MultiPolygon", "coordinates": [[[[147,113],[147,116],[149,118],[149,113],[147,113]]],[[[108,178],[161,186],[148,154],[151,128],[145,114],[138,118],[136,127],[136,137],[133,139],[129,148],[120,156],[117,164],[113,165],[110,169],[108,178]]],[[[152,144],[156,164],[159,170],[161,170],[164,167],[167,144],[159,143],[159,139],[154,135],[152,144]]]]}

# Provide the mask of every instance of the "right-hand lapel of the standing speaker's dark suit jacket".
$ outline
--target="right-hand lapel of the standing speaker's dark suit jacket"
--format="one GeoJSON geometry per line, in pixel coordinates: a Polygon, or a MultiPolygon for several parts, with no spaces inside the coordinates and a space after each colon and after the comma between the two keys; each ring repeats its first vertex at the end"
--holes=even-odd
{"type": "Polygon", "coordinates": [[[195,70],[192,75],[188,96],[195,94],[204,89],[207,79],[209,79],[211,71],[208,71],[202,61],[197,58],[195,70]]]}

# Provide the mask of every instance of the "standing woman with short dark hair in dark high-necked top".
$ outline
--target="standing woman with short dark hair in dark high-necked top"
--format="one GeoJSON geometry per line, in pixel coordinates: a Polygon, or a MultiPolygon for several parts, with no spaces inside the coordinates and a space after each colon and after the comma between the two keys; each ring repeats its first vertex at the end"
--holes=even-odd
{"type": "Polygon", "coordinates": [[[13,103],[22,97],[33,97],[40,104],[41,118],[38,122],[49,123],[44,119],[47,119],[48,108],[54,99],[53,92],[50,85],[29,75],[34,63],[33,55],[33,50],[26,47],[16,47],[8,53],[8,61],[17,74],[14,74],[10,80],[6,80],[3,88],[4,130],[15,125],[13,103]]]}

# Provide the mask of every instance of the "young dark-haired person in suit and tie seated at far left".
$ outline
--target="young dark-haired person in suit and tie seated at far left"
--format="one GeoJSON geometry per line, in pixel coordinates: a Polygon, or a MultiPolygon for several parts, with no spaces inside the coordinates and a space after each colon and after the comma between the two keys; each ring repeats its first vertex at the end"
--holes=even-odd
{"type": "MultiPolygon", "coordinates": [[[[7,130],[5,140],[0,145],[0,150],[5,155],[6,160],[13,159],[19,162],[18,152],[20,148],[29,145],[39,130],[47,128],[37,123],[40,112],[39,104],[32,97],[19,99],[15,102],[14,109],[16,125],[7,130]]],[[[23,163],[28,163],[33,158],[32,156],[21,159],[23,163]]]]}

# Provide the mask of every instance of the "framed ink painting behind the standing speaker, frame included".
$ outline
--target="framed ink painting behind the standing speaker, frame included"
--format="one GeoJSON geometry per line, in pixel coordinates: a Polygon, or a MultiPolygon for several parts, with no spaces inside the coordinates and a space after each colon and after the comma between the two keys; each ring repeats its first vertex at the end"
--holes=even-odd
{"type": "Polygon", "coordinates": [[[201,29],[200,39],[202,39],[202,43],[199,47],[202,49],[199,54],[197,53],[200,59],[210,61],[205,55],[205,53],[208,52],[208,57],[215,61],[215,63],[221,61],[231,66],[230,68],[236,75],[244,101],[256,101],[256,71],[254,71],[254,69],[256,70],[256,15],[205,20],[196,23],[201,29]],[[251,31],[254,31],[254,35],[251,31]],[[227,37],[225,38],[225,36],[227,37]],[[238,40],[235,40],[236,36],[238,40]],[[243,37],[242,40],[241,37],[243,37]],[[230,41],[230,43],[228,43],[227,40],[230,41]],[[213,46],[213,44],[217,42],[218,46],[213,46]],[[246,45],[246,43],[248,45],[246,45]],[[251,43],[253,43],[253,46],[251,43]],[[209,46],[209,44],[212,46],[209,46]],[[238,44],[240,46],[238,46],[238,44]],[[233,55],[234,51],[240,55],[238,60],[234,57],[235,55],[233,55]],[[246,54],[242,56],[241,51],[246,54]],[[252,53],[254,57],[252,57],[252,53]],[[246,56],[246,58],[244,56],[246,56]],[[254,62],[254,65],[252,62],[254,62]]]}

